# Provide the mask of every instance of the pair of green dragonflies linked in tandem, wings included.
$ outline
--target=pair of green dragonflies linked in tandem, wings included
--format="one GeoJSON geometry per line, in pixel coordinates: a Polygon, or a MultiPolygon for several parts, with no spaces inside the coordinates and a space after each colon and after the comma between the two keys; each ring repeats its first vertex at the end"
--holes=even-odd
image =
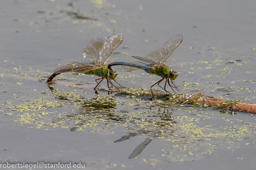
{"type": "MultiPolygon", "coordinates": [[[[106,64],[110,60],[114,50],[122,43],[123,36],[122,34],[116,34],[110,37],[105,42],[102,38],[98,37],[91,40],[83,48],[81,56],[83,63],[72,61],[64,64],[63,66],[53,71],[54,73],[48,78],[47,82],[51,84],[52,79],[55,76],[65,72],[78,72],[88,75],[96,75],[101,77],[95,80],[96,82],[97,80],[100,80],[99,83],[97,82],[98,84],[94,88],[94,90],[96,91],[97,86],[103,81],[103,79],[107,79],[108,87],[109,83],[113,85],[111,80],[115,81],[114,79],[117,76],[117,72],[112,68],[112,66],[120,65],[116,69],[117,71],[129,72],[143,69],[149,74],[155,74],[157,76],[162,77],[161,80],[159,80],[150,87],[153,97],[154,94],[152,91],[152,87],[156,84],[159,85],[164,79],[166,79],[164,88],[159,85],[162,89],[168,92],[166,90],[166,84],[168,82],[173,91],[173,88],[179,91],[179,89],[173,83],[173,81],[177,78],[178,73],[174,69],[169,69],[169,67],[166,64],[171,60],[173,52],[177,49],[182,40],[183,36],[181,34],[177,34],[173,36],[171,39],[169,39],[162,46],[162,48],[148,53],[145,57],[132,56],[133,58],[136,58],[140,61],[112,62],[107,66],[106,64]],[[170,81],[174,86],[170,84],[170,81]]],[[[116,87],[115,85],[113,86],[116,87]]],[[[109,89],[112,90],[110,87],[109,89]]]]}

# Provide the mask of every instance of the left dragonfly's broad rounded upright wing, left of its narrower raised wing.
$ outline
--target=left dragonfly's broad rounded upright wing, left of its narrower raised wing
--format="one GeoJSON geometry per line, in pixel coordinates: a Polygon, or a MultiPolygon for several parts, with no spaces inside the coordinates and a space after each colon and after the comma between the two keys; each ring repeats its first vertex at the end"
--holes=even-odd
{"type": "Polygon", "coordinates": [[[91,40],[82,51],[82,61],[85,65],[96,65],[102,51],[104,41],[101,37],[91,40]]]}

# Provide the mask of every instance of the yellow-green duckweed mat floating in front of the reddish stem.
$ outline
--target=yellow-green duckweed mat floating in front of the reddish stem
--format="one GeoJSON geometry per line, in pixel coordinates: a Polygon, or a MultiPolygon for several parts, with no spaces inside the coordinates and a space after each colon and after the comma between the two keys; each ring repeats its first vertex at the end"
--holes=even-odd
{"type": "Polygon", "coordinates": [[[152,158],[143,159],[148,163],[198,160],[216,149],[250,146],[255,139],[253,117],[251,122],[244,122],[236,118],[236,113],[230,117],[209,108],[184,107],[169,100],[150,101],[124,92],[94,96],[84,90],[56,88],[18,105],[2,102],[1,109],[5,114],[2,119],[12,119],[28,128],[65,128],[99,135],[125,129],[128,135],[124,133],[126,136],[115,142],[141,135],[145,141],[129,158],[138,158],[151,140],[164,143],[165,149],[158,155],[152,153],[152,158]]]}

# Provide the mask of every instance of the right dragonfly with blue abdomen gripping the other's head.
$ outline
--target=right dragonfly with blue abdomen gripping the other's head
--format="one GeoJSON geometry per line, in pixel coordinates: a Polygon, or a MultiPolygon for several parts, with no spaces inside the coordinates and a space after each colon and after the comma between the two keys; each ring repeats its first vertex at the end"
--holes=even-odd
{"type": "Polygon", "coordinates": [[[163,90],[170,93],[169,91],[166,90],[166,84],[168,83],[173,91],[174,91],[173,88],[179,91],[179,89],[173,83],[173,81],[177,78],[178,73],[173,68],[170,69],[166,64],[171,60],[174,51],[178,48],[182,40],[183,40],[182,34],[177,34],[173,36],[171,39],[169,39],[162,46],[162,48],[151,51],[145,57],[132,56],[133,58],[138,59],[140,61],[112,62],[108,64],[108,67],[111,68],[113,65],[120,65],[116,70],[125,71],[125,72],[143,69],[148,74],[155,74],[157,76],[162,77],[161,80],[159,80],[158,82],[156,82],[150,87],[153,97],[154,97],[154,94],[152,91],[152,87],[156,84],[159,85],[164,79],[166,79],[164,88],[159,85],[163,90]],[[170,84],[170,81],[174,86],[170,84]]]}

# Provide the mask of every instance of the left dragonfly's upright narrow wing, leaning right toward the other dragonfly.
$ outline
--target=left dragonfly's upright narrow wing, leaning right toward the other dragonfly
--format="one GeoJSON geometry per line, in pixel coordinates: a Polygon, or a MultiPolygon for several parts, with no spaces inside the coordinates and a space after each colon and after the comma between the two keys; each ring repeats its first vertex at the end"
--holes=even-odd
{"type": "Polygon", "coordinates": [[[102,51],[97,59],[98,64],[105,65],[111,58],[115,49],[122,43],[123,35],[116,34],[104,42],[102,51]]]}

